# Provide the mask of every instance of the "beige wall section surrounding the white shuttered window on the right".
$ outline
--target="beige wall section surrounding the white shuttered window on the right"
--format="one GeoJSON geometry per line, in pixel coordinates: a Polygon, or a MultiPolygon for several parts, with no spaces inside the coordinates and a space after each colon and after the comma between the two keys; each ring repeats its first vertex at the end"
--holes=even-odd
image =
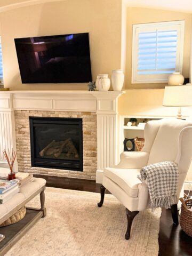
{"type": "MultiPolygon", "coordinates": [[[[182,4],[182,3],[181,3],[182,4]]],[[[131,84],[131,61],[132,61],[132,25],[140,23],[185,20],[185,38],[183,52],[183,71],[185,77],[189,77],[190,41],[192,14],[155,10],[147,8],[127,8],[127,51],[126,51],[126,85],[130,88],[163,88],[165,84],[131,84]]]]}

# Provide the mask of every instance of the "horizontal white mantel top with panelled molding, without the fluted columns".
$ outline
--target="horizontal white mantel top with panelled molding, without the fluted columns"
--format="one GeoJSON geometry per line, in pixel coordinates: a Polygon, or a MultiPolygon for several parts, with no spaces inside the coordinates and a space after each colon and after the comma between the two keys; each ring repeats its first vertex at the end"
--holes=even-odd
{"type": "Polygon", "coordinates": [[[93,111],[100,114],[117,113],[117,99],[124,92],[89,91],[9,91],[1,92],[0,109],[93,111]],[[12,95],[12,102],[10,102],[12,95]]]}

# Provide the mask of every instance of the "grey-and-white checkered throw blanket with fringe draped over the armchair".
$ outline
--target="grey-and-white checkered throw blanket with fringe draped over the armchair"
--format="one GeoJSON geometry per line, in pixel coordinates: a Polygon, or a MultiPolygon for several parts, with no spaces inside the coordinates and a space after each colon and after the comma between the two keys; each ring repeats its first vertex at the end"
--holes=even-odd
{"type": "Polygon", "coordinates": [[[156,207],[168,209],[178,203],[179,171],[174,162],[161,162],[142,167],[138,178],[142,182],[147,179],[152,211],[156,207]]]}

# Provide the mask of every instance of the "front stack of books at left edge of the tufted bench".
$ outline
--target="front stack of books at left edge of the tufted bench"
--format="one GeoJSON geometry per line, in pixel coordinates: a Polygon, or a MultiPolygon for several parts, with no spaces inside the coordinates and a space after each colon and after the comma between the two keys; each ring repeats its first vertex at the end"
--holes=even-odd
{"type": "Polygon", "coordinates": [[[17,193],[19,193],[17,180],[0,180],[0,204],[4,204],[17,193]]]}

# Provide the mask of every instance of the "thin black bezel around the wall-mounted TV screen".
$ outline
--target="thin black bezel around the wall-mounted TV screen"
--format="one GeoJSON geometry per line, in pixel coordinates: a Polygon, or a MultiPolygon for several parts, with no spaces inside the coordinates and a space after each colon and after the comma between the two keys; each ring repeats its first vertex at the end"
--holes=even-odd
{"type": "MultiPolygon", "coordinates": [[[[84,33],[70,33],[70,34],[59,34],[59,35],[49,35],[49,36],[30,36],[30,37],[33,37],[33,38],[38,38],[38,37],[52,37],[52,36],[69,36],[69,35],[82,35],[82,34],[88,34],[88,39],[89,39],[89,53],[90,53],[90,68],[91,68],[91,81],[92,81],[92,63],[91,63],[91,47],[90,47],[90,33],[89,32],[84,32],[84,33]]],[[[89,83],[90,81],[87,81],[87,82],[46,82],[46,83],[43,83],[43,82],[23,82],[22,81],[22,76],[21,76],[21,68],[20,68],[20,63],[19,63],[19,59],[18,59],[18,53],[17,53],[17,47],[16,47],[16,43],[15,43],[15,40],[17,39],[25,39],[25,38],[30,38],[30,37],[17,37],[17,38],[14,38],[14,44],[15,44],[15,51],[16,51],[16,54],[17,54],[17,60],[18,60],[18,65],[19,65],[19,73],[20,73],[20,77],[21,77],[21,82],[22,84],[84,84],[84,83],[89,83]]]]}

